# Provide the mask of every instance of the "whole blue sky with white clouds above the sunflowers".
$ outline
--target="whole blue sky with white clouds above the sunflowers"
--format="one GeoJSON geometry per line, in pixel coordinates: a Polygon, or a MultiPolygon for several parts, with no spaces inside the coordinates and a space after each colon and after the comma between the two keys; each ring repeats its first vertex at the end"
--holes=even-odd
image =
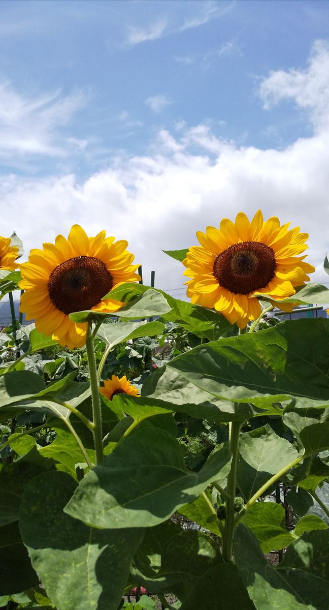
{"type": "Polygon", "coordinates": [[[1,235],[26,251],[79,223],[161,249],[240,210],[329,250],[327,0],[2,0],[1,235]]]}

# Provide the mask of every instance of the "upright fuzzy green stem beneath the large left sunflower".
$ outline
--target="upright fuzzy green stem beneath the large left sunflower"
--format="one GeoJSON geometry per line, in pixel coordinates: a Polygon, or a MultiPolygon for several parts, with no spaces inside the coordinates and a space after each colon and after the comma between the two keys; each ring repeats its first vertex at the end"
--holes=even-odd
{"type": "Polygon", "coordinates": [[[103,432],[102,432],[102,413],[101,413],[101,400],[99,398],[99,387],[97,379],[97,368],[96,359],[94,353],[94,342],[93,342],[93,329],[91,328],[91,322],[88,322],[87,331],[87,358],[90,375],[90,387],[91,387],[91,400],[93,403],[93,436],[96,451],[96,464],[101,464],[104,459],[103,453],[103,432]]]}

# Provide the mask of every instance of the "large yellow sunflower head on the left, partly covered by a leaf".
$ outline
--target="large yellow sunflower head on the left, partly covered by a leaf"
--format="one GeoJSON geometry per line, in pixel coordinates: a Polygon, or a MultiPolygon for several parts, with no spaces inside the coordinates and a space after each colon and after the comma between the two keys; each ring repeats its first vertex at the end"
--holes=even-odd
{"type": "Polygon", "coordinates": [[[54,244],[31,250],[29,262],[20,265],[23,280],[19,288],[25,290],[20,311],[27,320],[35,320],[39,332],[51,335],[60,345],[82,347],[88,324],[71,321],[69,314],[88,309],[111,314],[122,303],[104,299],[104,295],[122,282],[140,279],[127,245],[105,237],[105,231],[87,237],[74,224],[67,240],[57,235],[54,244]]]}

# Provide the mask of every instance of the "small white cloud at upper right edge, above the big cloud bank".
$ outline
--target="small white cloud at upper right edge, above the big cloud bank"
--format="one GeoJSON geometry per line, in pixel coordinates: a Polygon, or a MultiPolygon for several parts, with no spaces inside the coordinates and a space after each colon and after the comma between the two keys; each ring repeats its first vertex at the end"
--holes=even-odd
{"type": "Polygon", "coordinates": [[[264,108],[282,99],[294,99],[299,108],[310,112],[316,129],[329,122],[329,43],[317,40],[306,70],[276,70],[260,86],[264,108]]]}

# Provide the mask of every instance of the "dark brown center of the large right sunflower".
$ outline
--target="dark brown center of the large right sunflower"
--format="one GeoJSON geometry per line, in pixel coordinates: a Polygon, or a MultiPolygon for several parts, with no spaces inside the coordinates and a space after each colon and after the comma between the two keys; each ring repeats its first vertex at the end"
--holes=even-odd
{"type": "Polygon", "coordinates": [[[259,242],[235,243],[214,261],[213,275],[223,286],[239,295],[264,288],[274,277],[275,254],[259,242]]]}

